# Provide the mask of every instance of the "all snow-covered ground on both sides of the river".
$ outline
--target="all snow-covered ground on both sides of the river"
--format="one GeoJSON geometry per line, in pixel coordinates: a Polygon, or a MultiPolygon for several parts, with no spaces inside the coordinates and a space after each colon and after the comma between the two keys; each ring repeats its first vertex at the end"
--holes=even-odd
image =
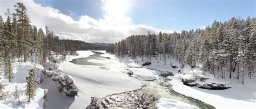
{"type": "MultiPolygon", "coordinates": [[[[103,52],[105,51],[98,51],[103,52]]],[[[9,91],[8,98],[0,101],[1,108],[42,108],[43,104],[43,91],[47,90],[48,96],[48,108],[85,108],[91,102],[91,97],[103,98],[107,95],[114,93],[132,91],[142,88],[144,86],[143,81],[149,81],[159,78],[158,70],[170,71],[176,74],[179,70],[179,62],[175,59],[166,59],[166,64],[163,64],[163,60],[157,61],[156,59],[144,58],[141,59],[130,59],[128,57],[116,57],[112,54],[102,54],[100,56],[109,57],[109,59],[101,58],[100,60],[87,60],[94,63],[103,63],[107,69],[99,68],[99,66],[89,65],[78,65],[71,63],[70,61],[77,58],[88,57],[93,55],[91,51],[78,51],[78,56],[67,56],[66,60],[57,61],[59,63],[58,69],[55,71],[63,72],[64,74],[71,75],[78,86],[78,96],[66,97],[63,96],[56,88],[55,82],[51,78],[44,78],[43,83],[37,87],[37,95],[34,100],[30,103],[26,103],[25,88],[26,81],[25,76],[29,70],[33,67],[42,69],[43,67],[39,64],[26,62],[13,64],[13,71],[15,73],[11,83],[5,86],[5,91],[9,91]],[[142,63],[151,61],[150,66],[142,67],[142,63]],[[126,66],[128,65],[128,67],[126,66]],[[174,69],[171,66],[177,66],[174,69]],[[125,69],[131,70],[133,75],[123,73],[125,69]],[[147,69],[149,68],[149,69],[147,69]],[[157,70],[151,70],[157,69],[157,70]],[[20,99],[23,102],[22,105],[18,106],[17,101],[12,100],[15,86],[18,86],[19,92],[21,93],[20,99]]],[[[193,69],[193,72],[197,76],[210,77],[208,82],[222,82],[229,83],[232,87],[226,90],[207,90],[200,89],[197,87],[186,86],[181,82],[180,78],[191,78],[193,77],[190,69],[184,69],[186,75],[176,74],[175,76],[168,77],[172,81],[170,83],[173,86],[173,90],[177,91],[188,97],[199,99],[207,104],[210,104],[216,108],[255,108],[256,107],[256,86],[255,77],[248,79],[245,76],[245,85],[241,84],[241,80],[237,79],[220,79],[215,78],[212,74],[202,74],[199,69],[193,69]]],[[[227,72],[227,71],[226,71],[227,72]]],[[[219,72],[217,72],[219,73],[219,72]]],[[[228,75],[228,74],[226,74],[228,75]]],[[[0,82],[6,82],[8,79],[1,74],[0,82]]],[[[182,101],[173,99],[159,99],[157,104],[161,108],[170,108],[174,106],[177,108],[197,108],[193,105],[183,103],[182,101]]]]}

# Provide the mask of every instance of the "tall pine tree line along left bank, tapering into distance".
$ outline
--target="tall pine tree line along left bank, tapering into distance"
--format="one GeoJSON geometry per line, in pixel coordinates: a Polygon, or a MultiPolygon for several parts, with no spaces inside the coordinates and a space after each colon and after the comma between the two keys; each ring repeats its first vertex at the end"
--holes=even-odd
{"type": "MultiPolygon", "coordinates": [[[[4,13],[6,21],[0,16],[0,66],[5,67],[5,73],[11,78],[11,64],[17,58],[19,62],[31,61],[44,64],[52,55],[73,55],[76,50],[104,50],[104,46],[77,40],[59,39],[45,26],[37,28],[30,24],[23,3],[17,3],[15,12],[9,9],[4,13]]],[[[10,81],[10,79],[9,79],[10,81]]]]}

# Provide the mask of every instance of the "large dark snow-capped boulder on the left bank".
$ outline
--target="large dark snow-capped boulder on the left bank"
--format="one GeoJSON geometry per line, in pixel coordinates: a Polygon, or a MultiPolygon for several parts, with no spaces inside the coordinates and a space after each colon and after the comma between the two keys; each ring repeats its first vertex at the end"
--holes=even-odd
{"type": "Polygon", "coordinates": [[[53,76],[52,80],[56,82],[59,92],[69,97],[75,97],[78,94],[78,88],[73,78],[61,72],[59,72],[59,75],[55,73],[56,72],[53,71],[52,75],[56,76],[53,76]]]}

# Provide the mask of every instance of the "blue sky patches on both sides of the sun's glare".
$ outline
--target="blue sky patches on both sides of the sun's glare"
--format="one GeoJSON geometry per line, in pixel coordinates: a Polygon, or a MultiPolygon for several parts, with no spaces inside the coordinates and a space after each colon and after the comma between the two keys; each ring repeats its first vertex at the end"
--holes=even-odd
{"type": "MultiPolygon", "coordinates": [[[[106,14],[101,0],[35,0],[78,20],[87,15],[94,19],[106,14]],[[72,13],[72,14],[71,14],[72,13]]],[[[256,16],[255,0],[132,0],[127,1],[125,16],[134,25],[143,24],[162,30],[190,30],[211,25],[214,20],[227,21],[232,17],[256,16]]]]}

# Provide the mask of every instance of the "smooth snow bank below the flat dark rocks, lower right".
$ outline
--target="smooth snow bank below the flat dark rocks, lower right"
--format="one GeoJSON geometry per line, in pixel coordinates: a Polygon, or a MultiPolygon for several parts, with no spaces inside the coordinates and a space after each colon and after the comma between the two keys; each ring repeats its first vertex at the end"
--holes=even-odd
{"type": "MultiPolygon", "coordinates": [[[[172,77],[171,77],[172,78],[172,77]]],[[[213,105],[216,108],[255,108],[255,85],[236,84],[226,90],[207,90],[183,85],[179,79],[173,78],[170,83],[173,90],[213,105]]],[[[255,83],[254,83],[255,84],[255,83]]]]}

